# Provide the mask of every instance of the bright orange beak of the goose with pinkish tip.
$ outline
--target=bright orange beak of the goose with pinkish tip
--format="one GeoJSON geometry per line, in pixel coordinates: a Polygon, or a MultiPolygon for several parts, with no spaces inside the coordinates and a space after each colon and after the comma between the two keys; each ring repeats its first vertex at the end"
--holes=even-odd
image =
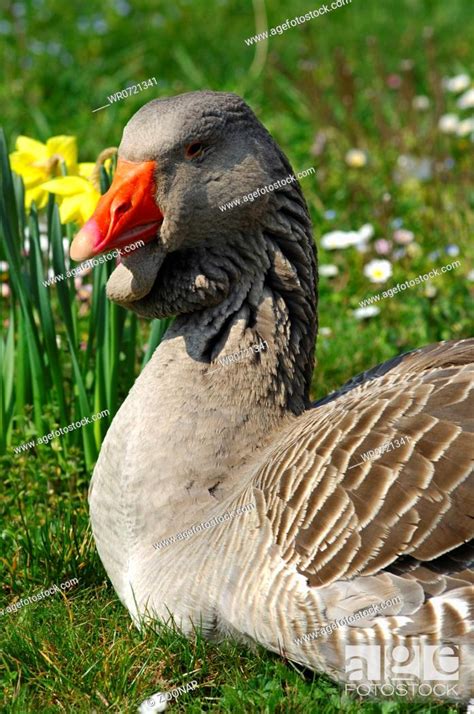
{"type": "Polygon", "coordinates": [[[119,159],[114,180],[71,243],[75,261],[156,237],[163,214],[155,203],[155,161],[119,159]]]}

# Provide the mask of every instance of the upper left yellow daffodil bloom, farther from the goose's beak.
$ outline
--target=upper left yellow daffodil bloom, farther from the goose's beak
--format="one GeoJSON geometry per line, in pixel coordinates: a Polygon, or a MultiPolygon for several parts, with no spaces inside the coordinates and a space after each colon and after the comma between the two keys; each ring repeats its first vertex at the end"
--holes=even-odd
{"type": "Polygon", "coordinates": [[[77,145],[74,136],[53,136],[43,144],[41,141],[19,136],[16,151],[10,154],[12,170],[24,181],[26,207],[34,201],[38,208],[44,208],[48,193],[43,184],[50,178],[61,176],[61,162],[64,161],[68,174],[78,171],[77,145]]]}

